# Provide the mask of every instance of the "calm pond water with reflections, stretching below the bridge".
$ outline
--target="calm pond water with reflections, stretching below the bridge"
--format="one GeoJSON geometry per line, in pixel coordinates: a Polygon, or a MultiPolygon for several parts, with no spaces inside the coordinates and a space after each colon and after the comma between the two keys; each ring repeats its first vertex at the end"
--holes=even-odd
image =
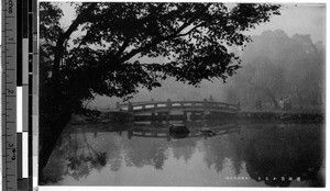
{"type": "Polygon", "coordinates": [[[323,125],[69,126],[44,169],[45,184],[322,187],[323,125]]]}

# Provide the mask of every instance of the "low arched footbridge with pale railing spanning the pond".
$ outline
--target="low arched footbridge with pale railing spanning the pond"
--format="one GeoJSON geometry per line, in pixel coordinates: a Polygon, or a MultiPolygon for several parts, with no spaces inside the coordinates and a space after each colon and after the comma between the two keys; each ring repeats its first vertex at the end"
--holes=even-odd
{"type": "Polygon", "coordinates": [[[134,121],[197,121],[231,117],[240,111],[239,104],[215,101],[146,101],[117,103],[117,110],[133,113],[134,121]]]}

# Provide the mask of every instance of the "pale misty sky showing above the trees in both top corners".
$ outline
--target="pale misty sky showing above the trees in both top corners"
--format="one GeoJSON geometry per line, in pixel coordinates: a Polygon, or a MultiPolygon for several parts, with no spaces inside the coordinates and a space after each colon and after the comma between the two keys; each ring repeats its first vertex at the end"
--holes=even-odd
{"type": "MultiPolygon", "coordinates": [[[[75,18],[73,8],[63,5],[63,26],[67,27],[75,18]]],[[[326,3],[286,3],[280,8],[280,15],[271,18],[271,22],[263,23],[250,34],[261,34],[266,30],[283,30],[288,36],[294,34],[310,34],[312,41],[326,41],[326,3]]]]}

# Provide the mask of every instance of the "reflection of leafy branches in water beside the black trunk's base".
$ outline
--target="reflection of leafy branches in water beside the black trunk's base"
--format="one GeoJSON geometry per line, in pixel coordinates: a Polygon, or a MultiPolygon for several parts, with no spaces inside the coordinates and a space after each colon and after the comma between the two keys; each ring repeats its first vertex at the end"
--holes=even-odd
{"type": "Polygon", "coordinates": [[[76,180],[86,178],[92,169],[103,168],[107,160],[107,153],[96,150],[89,144],[84,131],[81,134],[66,132],[52,154],[41,184],[57,183],[63,180],[62,177],[65,175],[72,176],[76,180]]]}

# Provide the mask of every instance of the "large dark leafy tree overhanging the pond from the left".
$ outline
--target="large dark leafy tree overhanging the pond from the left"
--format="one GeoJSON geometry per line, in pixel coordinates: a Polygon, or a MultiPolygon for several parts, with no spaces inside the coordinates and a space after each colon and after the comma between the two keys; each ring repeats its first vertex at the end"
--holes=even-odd
{"type": "MultiPolygon", "coordinates": [[[[166,77],[198,85],[226,80],[240,67],[227,49],[250,41],[244,31],[279,14],[275,4],[70,3],[76,18],[62,29],[55,3],[40,8],[40,170],[72,113],[89,115],[96,94],[130,98],[138,87],[160,87],[166,77]],[[78,31],[80,35],[74,36],[78,31]],[[142,63],[143,57],[167,63],[142,63]]],[[[42,171],[40,171],[41,175],[42,171]]]]}

